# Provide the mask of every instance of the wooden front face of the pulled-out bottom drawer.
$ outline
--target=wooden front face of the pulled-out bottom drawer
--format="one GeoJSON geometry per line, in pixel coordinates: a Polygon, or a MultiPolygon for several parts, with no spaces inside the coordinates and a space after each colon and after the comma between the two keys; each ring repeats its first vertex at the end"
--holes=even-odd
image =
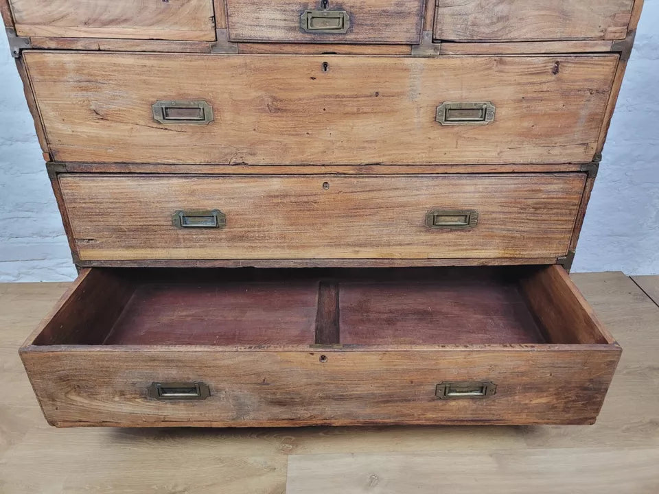
{"type": "Polygon", "coordinates": [[[593,423],[619,358],[615,349],[537,347],[288,352],[220,351],[212,346],[59,348],[22,356],[43,412],[49,423],[60,426],[593,423]],[[460,381],[492,382],[496,394],[437,398],[438,384],[460,381]],[[154,382],[187,383],[189,388],[197,382],[208,386],[209,397],[154,399],[149,396],[154,382]]]}

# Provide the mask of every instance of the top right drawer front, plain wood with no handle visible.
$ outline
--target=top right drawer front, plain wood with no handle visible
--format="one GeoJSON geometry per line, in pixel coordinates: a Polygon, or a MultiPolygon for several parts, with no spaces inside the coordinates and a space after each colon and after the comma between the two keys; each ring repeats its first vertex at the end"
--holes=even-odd
{"type": "Polygon", "coordinates": [[[456,41],[614,40],[633,0],[437,0],[435,38],[456,41]]]}

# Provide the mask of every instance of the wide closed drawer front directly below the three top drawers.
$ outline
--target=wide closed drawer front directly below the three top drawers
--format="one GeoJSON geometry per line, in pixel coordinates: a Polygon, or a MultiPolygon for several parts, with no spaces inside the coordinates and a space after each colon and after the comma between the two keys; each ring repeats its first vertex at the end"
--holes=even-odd
{"type": "Polygon", "coordinates": [[[57,161],[251,165],[588,163],[618,60],[24,56],[57,161]],[[204,99],[215,120],[159,124],[159,99],[204,99]],[[494,103],[494,122],[438,124],[437,106],[456,101],[494,103]]]}

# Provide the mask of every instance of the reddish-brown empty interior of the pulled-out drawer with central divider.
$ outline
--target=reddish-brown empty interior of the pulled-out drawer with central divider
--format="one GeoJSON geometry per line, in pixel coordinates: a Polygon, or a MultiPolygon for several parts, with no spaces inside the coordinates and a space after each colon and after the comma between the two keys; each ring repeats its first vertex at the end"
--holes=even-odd
{"type": "Polygon", "coordinates": [[[612,343],[559,266],[83,270],[34,345],[612,343]]]}

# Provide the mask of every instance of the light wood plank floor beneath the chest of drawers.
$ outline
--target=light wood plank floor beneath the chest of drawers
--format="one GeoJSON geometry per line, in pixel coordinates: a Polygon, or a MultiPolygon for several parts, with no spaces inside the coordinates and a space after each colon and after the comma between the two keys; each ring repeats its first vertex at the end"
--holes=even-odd
{"type": "Polygon", "coordinates": [[[0,493],[657,494],[659,277],[573,278],[623,346],[591,426],[58,430],[16,349],[66,284],[0,284],[0,493]]]}

